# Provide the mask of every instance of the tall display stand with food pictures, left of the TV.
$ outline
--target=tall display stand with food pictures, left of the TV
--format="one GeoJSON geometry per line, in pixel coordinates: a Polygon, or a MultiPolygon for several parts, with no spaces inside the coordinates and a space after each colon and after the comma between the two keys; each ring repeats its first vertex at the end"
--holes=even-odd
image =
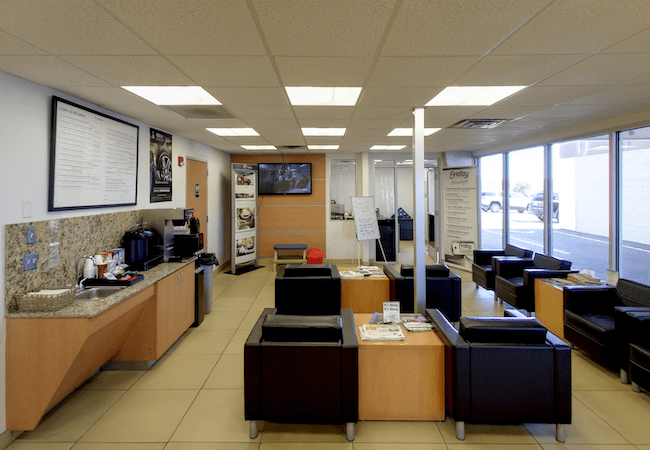
{"type": "Polygon", "coordinates": [[[237,266],[257,266],[257,166],[231,164],[232,273],[237,266]]]}

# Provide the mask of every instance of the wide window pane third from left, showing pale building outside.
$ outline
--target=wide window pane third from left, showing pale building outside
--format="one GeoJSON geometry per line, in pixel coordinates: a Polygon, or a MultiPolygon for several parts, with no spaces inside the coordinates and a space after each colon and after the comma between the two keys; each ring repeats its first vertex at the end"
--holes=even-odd
{"type": "MultiPolygon", "coordinates": [[[[609,136],[553,144],[551,152],[551,254],[604,280],[609,266],[609,136]]],[[[540,214],[543,202],[533,199],[531,210],[537,204],[540,209],[534,211],[540,214]]]]}

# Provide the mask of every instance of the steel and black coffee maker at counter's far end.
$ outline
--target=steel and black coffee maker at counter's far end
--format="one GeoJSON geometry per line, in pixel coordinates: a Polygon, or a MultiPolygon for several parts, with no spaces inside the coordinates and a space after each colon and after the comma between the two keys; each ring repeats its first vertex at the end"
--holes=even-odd
{"type": "MultiPolygon", "coordinates": [[[[179,256],[184,256],[177,254],[175,237],[190,234],[189,225],[193,212],[192,208],[145,209],[142,212],[145,224],[159,235],[156,251],[163,256],[164,262],[174,261],[179,256]]],[[[202,243],[202,235],[200,240],[202,243]]],[[[181,247],[182,245],[179,244],[179,250],[181,247]]]]}

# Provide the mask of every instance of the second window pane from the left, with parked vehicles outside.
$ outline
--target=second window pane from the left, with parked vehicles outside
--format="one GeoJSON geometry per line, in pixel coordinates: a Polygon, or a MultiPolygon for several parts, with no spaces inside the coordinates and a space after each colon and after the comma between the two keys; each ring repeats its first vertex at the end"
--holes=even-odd
{"type": "Polygon", "coordinates": [[[509,211],[508,243],[534,252],[544,252],[544,223],[539,203],[544,192],[544,147],[507,154],[509,211]]]}

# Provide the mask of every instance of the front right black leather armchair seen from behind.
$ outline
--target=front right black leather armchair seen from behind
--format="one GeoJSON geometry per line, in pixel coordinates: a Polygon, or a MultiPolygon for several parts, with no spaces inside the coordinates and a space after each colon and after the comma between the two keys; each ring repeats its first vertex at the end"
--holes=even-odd
{"type": "Polygon", "coordinates": [[[461,317],[427,309],[445,345],[445,402],[456,438],[469,423],[571,423],[571,347],[535,318],[461,317]]]}

